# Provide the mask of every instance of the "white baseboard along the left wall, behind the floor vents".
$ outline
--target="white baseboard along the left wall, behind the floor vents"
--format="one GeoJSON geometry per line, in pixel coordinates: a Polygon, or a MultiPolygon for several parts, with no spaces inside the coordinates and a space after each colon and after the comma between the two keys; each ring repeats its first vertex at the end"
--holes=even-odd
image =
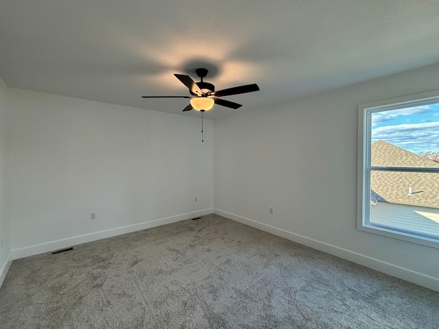
{"type": "Polygon", "coordinates": [[[30,245],[28,247],[12,249],[12,260],[23,258],[27,256],[34,256],[37,254],[43,254],[45,252],[51,252],[56,249],[62,249],[65,247],[71,247],[73,245],[80,245],[81,243],[87,243],[91,241],[96,241],[100,239],[110,238],[112,236],[117,236],[120,234],[126,234],[131,232],[136,232],[140,230],[145,230],[147,228],[154,228],[156,226],[161,226],[169,223],[175,223],[176,221],[183,221],[185,219],[190,219],[197,216],[209,215],[213,212],[212,208],[198,210],[194,212],[188,212],[182,215],[176,215],[161,219],[154,219],[152,221],[145,221],[143,223],[137,223],[128,226],[122,226],[120,228],[112,228],[110,230],[104,230],[99,232],[93,232],[88,234],[83,234],[80,236],[72,236],[71,238],[61,239],[56,241],[50,241],[47,243],[40,243],[38,245],[30,245]]]}

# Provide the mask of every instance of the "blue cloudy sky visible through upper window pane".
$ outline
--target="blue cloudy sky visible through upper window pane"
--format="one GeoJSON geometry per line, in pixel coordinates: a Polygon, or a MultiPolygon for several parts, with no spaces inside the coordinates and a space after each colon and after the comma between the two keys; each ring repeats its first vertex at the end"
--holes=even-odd
{"type": "Polygon", "coordinates": [[[416,154],[439,151],[439,103],[372,114],[372,143],[380,139],[416,154]]]}

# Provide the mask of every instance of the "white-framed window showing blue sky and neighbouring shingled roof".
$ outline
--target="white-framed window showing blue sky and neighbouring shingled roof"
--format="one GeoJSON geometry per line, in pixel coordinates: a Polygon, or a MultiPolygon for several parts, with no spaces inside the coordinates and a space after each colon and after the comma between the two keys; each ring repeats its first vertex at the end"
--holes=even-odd
{"type": "Polygon", "coordinates": [[[358,110],[357,228],[439,248],[439,90],[358,110]]]}

